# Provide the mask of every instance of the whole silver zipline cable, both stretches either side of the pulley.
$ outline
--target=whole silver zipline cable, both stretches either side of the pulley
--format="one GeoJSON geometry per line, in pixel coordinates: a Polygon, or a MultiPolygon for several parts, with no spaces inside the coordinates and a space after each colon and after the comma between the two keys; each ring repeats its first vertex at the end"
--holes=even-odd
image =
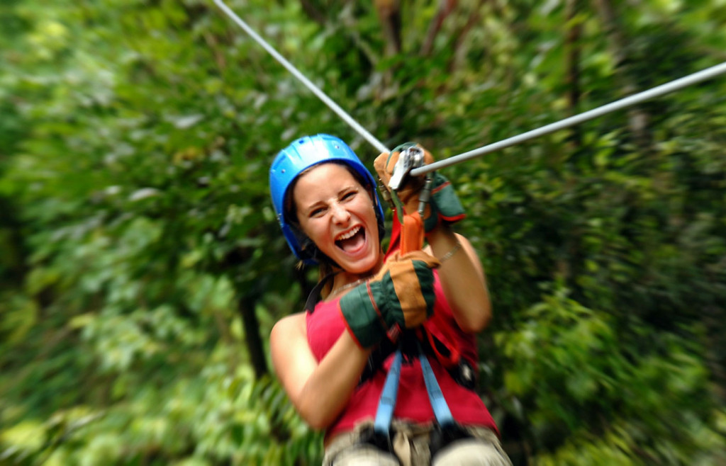
{"type": "MultiPolygon", "coordinates": [[[[252,28],[250,28],[250,26],[246,22],[242,21],[242,19],[240,19],[240,17],[238,17],[237,14],[232,11],[232,9],[229,9],[229,7],[224,4],[224,1],[214,0],[214,3],[217,4],[217,6],[225,14],[227,14],[229,18],[236,22],[237,25],[240,26],[240,28],[245,30],[245,32],[248,33],[251,38],[253,38],[258,44],[260,44],[270,55],[272,55],[274,59],[277,59],[277,61],[280,62],[282,66],[290,71],[290,73],[292,73],[295,78],[298,78],[298,80],[300,80],[303,85],[305,85],[307,88],[310,89],[310,91],[318,96],[319,99],[322,100],[328,107],[330,107],[330,109],[332,109],[333,112],[335,112],[340,118],[342,118],[343,121],[348,123],[351,128],[356,130],[357,133],[359,133],[369,143],[371,143],[371,145],[375,147],[375,149],[378,149],[378,151],[380,152],[390,152],[390,150],[388,150],[383,143],[381,143],[377,138],[375,138],[375,136],[373,136],[365,128],[359,125],[359,123],[356,122],[353,117],[348,115],[348,113],[340,108],[338,104],[335,104],[333,99],[330,99],[330,97],[328,97],[323,91],[321,91],[319,88],[317,88],[317,86],[311,83],[311,81],[306,78],[300,71],[298,71],[297,68],[290,64],[290,62],[288,62],[285,57],[282,57],[282,55],[280,55],[272,46],[270,46],[269,43],[267,43],[252,28]]],[[[723,74],[726,74],[726,62],[723,62],[720,65],[714,65],[712,67],[706,68],[705,70],[695,72],[691,75],[686,75],[682,78],[672,80],[669,83],[661,84],[661,86],[650,88],[647,91],[636,93],[632,96],[627,96],[623,99],[613,101],[609,104],[605,104],[595,109],[588,110],[587,112],[582,112],[578,115],[567,117],[563,120],[550,123],[549,125],[544,125],[540,128],[527,131],[526,133],[522,133],[518,136],[502,139],[501,141],[481,146],[478,149],[473,149],[471,151],[467,151],[462,154],[449,157],[447,159],[439,160],[438,162],[433,162],[429,165],[414,168],[411,170],[410,173],[412,176],[420,176],[425,173],[432,172],[433,170],[439,170],[440,168],[449,167],[450,165],[454,165],[460,162],[465,162],[466,160],[473,159],[474,157],[489,154],[491,152],[498,151],[499,149],[505,149],[506,147],[515,146],[516,144],[529,141],[530,139],[538,138],[539,136],[544,136],[550,133],[554,133],[555,131],[562,130],[564,128],[579,125],[579,123],[586,122],[594,118],[601,117],[603,115],[607,115],[611,112],[616,112],[617,110],[624,109],[626,107],[631,107],[635,104],[640,104],[650,99],[655,99],[656,97],[663,96],[666,93],[678,91],[682,88],[693,86],[696,83],[701,83],[704,80],[716,78],[717,76],[723,74]]]]}

